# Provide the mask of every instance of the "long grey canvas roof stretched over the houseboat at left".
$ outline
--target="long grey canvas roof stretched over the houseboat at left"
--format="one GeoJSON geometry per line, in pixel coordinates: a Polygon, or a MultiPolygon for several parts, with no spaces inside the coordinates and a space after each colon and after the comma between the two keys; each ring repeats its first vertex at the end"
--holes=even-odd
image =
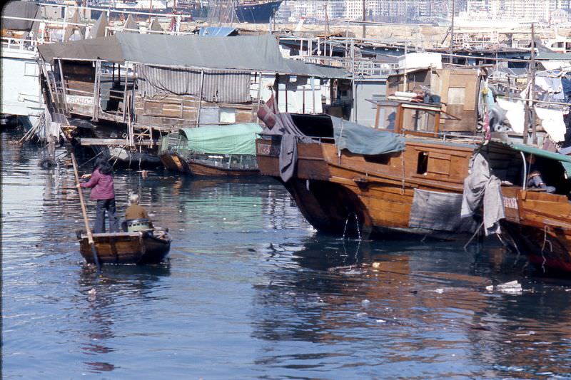
{"type": "Polygon", "coordinates": [[[113,36],[39,46],[44,60],[54,58],[102,59],[155,66],[261,71],[318,78],[345,78],[343,68],[312,65],[281,56],[276,37],[200,37],[165,34],[117,33],[113,36]]]}

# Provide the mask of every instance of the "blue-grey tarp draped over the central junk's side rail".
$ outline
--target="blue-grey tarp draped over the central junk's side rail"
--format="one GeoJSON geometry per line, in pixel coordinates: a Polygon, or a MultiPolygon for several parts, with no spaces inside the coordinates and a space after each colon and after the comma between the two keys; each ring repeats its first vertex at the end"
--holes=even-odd
{"type": "Polygon", "coordinates": [[[330,116],[333,122],[335,145],[361,155],[380,155],[400,152],[405,148],[403,136],[388,130],[378,130],[330,116]]]}

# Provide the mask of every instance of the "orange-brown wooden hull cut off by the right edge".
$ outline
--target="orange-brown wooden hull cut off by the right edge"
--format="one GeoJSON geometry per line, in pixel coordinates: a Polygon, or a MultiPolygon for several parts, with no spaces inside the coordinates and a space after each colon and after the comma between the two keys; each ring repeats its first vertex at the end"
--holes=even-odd
{"type": "Polygon", "coordinates": [[[564,195],[502,188],[502,227],[533,265],[571,273],[571,205],[564,195]]]}

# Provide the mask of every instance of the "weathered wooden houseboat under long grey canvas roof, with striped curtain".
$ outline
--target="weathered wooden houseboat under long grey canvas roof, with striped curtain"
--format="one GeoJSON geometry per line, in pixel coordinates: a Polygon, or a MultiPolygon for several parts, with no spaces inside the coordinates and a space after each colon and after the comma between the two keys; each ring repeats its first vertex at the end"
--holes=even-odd
{"type": "MultiPolygon", "coordinates": [[[[157,163],[161,135],[256,122],[258,100],[268,83],[280,83],[278,74],[313,81],[346,73],[284,59],[270,35],[117,33],[41,46],[39,52],[54,67],[43,70],[43,83],[51,111],[70,120],[70,137],[81,145],[115,147],[118,156],[128,150],[126,160],[151,153],[157,163]]],[[[316,94],[318,106],[323,94],[316,94]]]]}

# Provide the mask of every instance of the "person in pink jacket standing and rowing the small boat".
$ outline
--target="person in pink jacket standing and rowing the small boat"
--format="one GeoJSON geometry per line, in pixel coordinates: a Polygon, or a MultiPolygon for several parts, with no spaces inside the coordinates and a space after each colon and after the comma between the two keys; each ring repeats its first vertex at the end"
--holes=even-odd
{"type": "Polygon", "coordinates": [[[82,188],[91,188],[91,199],[97,201],[94,233],[105,232],[105,212],[109,218],[109,231],[119,232],[119,222],[116,217],[115,188],[113,186],[113,167],[105,158],[98,158],[94,172],[82,175],[90,178],[81,183],[82,188]]]}

